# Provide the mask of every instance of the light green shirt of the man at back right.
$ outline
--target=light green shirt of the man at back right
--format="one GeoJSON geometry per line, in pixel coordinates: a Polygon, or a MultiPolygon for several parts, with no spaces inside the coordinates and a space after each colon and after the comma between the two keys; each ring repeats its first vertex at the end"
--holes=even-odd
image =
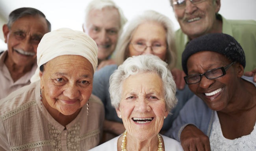
{"type": "MultiPolygon", "coordinates": [[[[245,51],[246,66],[245,71],[252,71],[256,68],[256,21],[255,20],[226,20],[221,15],[217,19],[222,20],[222,32],[233,36],[245,51]]],[[[189,38],[181,29],[175,32],[177,65],[182,69],[181,58],[189,38]]]]}

